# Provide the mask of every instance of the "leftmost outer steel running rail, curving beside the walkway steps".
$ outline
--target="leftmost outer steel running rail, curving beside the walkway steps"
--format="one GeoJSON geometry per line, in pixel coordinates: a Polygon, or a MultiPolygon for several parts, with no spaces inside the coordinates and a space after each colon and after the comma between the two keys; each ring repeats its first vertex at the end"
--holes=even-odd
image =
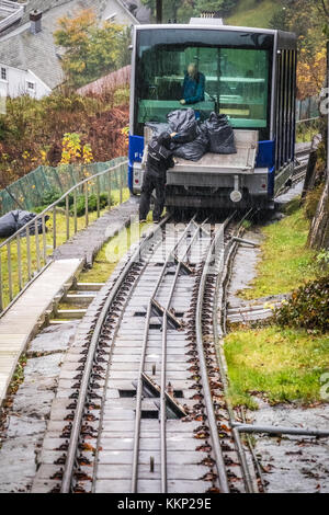
{"type": "Polygon", "coordinates": [[[79,397],[77,399],[77,408],[75,412],[75,419],[72,421],[71,435],[70,435],[69,446],[67,450],[67,458],[66,458],[64,473],[63,473],[60,493],[69,493],[71,490],[71,482],[72,482],[72,476],[73,476],[73,469],[75,469],[75,461],[77,458],[77,451],[78,451],[78,446],[79,446],[79,435],[80,435],[80,430],[81,430],[81,424],[82,424],[82,419],[83,419],[84,404],[88,398],[90,377],[91,377],[94,357],[97,354],[97,348],[98,348],[98,343],[99,343],[99,337],[100,337],[100,333],[101,333],[104,320],[107,316],[107,312],[112,302],[114,301],[117,293],[120,291],[123,281],[129,273],[132,265],[136,263],[137,261],[139,261],[141,250],[147,245],[148,241],[151,238],[154,238],[154,236],[157,234],[162,229],[162,226],[168,221],[168,219],[169,219],[169,216],[166,217],[161,221],[161,224],[155,230],[152,230],[138,245],[137,250],[134,252],[134,254],[131,256],[131,259],[125,264],[122,272],[120,273],[116,283],[114,284],[102,308],[102,311],[99,314],[99,318],[98,318],[98,321],[97,321],[97,324],[92,334],[92,339],[90,342],[90,346],[88,348],[83,377],[81,380],[79,397]]]}

